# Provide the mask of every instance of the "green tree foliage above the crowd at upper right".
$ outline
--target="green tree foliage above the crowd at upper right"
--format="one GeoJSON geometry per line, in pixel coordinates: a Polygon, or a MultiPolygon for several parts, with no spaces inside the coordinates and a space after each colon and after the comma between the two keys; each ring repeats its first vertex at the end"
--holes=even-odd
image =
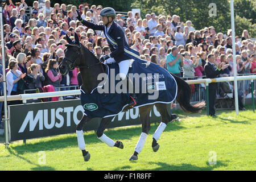
{"type": "MultiPolygon", "coordinates": [[[[156,15],[172,16],[176,14],[180,16],[184,23],[191,20],[193,27],[197,30],[214,26],[216,32],[226,34],[228,29],[231,28],[230,2],[228,0],[214,1],[216,14],[210,16],[213,13],[213,7],[209,6],[212,2],[212,0],[135,0],[131,7],[141,9],[142,17],[152,12],[156,15]]],[[[255,35],[255,24],[253,24],[255,21],[255,2],[252,0],[236,0],[235,3],[234,12],[238,15],[235,19],[237,35],[241,37],[242,30],[246,28],[250,30],[251,35],[255,35]],[[243,4],[243,2],[246,3],[243,4]],[[245,9],[247,10],[245,11],[245,9]]]]}

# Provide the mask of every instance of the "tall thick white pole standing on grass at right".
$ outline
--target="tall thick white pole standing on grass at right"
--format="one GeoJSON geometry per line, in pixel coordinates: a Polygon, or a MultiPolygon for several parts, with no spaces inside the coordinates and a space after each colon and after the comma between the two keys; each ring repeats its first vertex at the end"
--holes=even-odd
{"type": "Polygon", "coordinates": [[[231,9],[231,28],[232,28],[232,52],[233,52],[233,73],[234,73],[234,95],[236,104],[236,114],[239,115],[238,107],[238,90],[237,90],[237,60],[236,60],[236,44],[235,44],[235,27],[234,27],[234,0],[230,0],[231,9]]]}

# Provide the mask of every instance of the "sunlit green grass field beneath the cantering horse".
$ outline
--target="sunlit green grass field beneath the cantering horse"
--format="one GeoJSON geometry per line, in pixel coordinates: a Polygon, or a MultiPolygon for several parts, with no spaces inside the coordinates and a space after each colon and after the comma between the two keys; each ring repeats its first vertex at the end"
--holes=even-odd
{"type": "MultiPolygon", "coordinates": [[[[141,126],[105,131],[121,140],[123,150],[108,147],[97,139],[94,131],[84,133],[89,162],[84,162],[77,146],[76,134],[59,135],[0,144],[2,170],[255,170],[256,114],[250,110],[217,111],[217,118],[203,114],[179,114],[180,122],[168,123],[158,143],[151,148],[152,135],[159,123],[151,125],[139,160],[130,162],[141,134],[141,126]],[[45,159],[45,160],[43,160],[45,159]],[[216,159],[216,160],[213,160],[216,159]],[[210,164],[216,161],[216,164],[210,164]],[[45,163],[44,163],[45,162],[45,163]],[[210,162],[210,163],[209,163],[210,162]]],[[[0,138],[3,140],[3,137],[0,138]]]]}

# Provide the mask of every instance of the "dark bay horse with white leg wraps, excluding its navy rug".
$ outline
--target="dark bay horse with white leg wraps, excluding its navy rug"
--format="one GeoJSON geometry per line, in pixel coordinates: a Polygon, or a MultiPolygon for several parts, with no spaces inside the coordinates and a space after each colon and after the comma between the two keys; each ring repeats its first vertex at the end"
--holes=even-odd
{"type": "MultiPolygon", "coordinates": [[[[81,78],[82,78],[82,90],[85,93],[91,93],[94,88],[97,88],[98,84],[100,84],[101,80],[97,80],[97,76],[100,73],[105,72],[105,65],[101,64],[100,61],[93,55],[92,52],[89,51],[85,46],[79,43],[79,37],[75,34],[75,41],[72,40],[66,35],[67,42],[65,46],[65,56],[59,65],[60,73],[62,75],[67,75],[68,71],[77,67],[80,68],[81,78]]],[[[172,75],[177,83],[177,96],[176,101],[179,103],[181,109],[187,111],[189,113],[199,113],[204,107],[205,102],[197,103],[196,105],[191,105],[191,88],[179,77],[172,75]]],[[[169,114],[167,111],[167,104],[156,103],[152,105],[145,105],[139,107],[139,115],[142,123],[142,134],[139,138],[137,146],[135,147],[134,154],[131,155],[130,160],[138,160],[138,154],[141,152],[144,142],[146,141],[147,134],[150,131],[150,111],[153,106],[156,106],[156,109],[159,111],[162,122],[160,123],[158,129],[155,131],[155,134],[152,138],[152,150],[154,152],[158,151],[159,144],[157,143],[160,135],[164,131],[167,123],[174,121],[177,118],[176,114],[169,114]]],[[[133,107],[125,108],[132,109],[133,107]]],[[[123,143],[117,140],[114,142],[112,139],[108,138],[104,134],[104,130],[112,121],[113,117],[102,118],[100,126],[98,127],[96,134],[97,137],[102,141],[108,144],[110,147],[118,147],[123,148],[123,143]]],[[[85,124],[89,122],[92,118],[89,118],[87,115],[83,115],[81,121],[77,124],[77,140],[79,144],[79,148],[82,151],[82,156],[85,161],[90,159],[90,154],[85,150],[85,142],[84,142],[84,134],[82,129],[85,124]]]]}

